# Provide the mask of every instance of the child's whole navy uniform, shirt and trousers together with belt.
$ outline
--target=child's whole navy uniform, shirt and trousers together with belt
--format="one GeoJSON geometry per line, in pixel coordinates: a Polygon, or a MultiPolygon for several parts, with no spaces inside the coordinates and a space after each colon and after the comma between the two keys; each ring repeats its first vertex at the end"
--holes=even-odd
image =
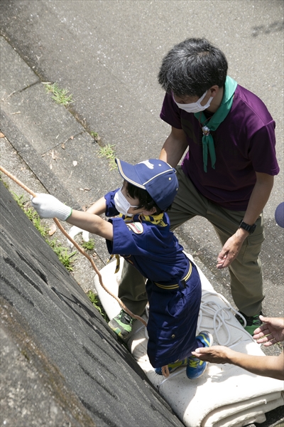
{"type": "MultiPolygon", "coordinates": [[[[107,216],[119,214],[114,205],[116,191],[104,196],[107,216]]],[[[123,256],[148,278],[147,353],[152,366],[163,367],[185,359],[198,347],[195,335],[201,282],[197,268],[170,231],[168,215],[136,215],[109,221],[114,226],[114,240],[107,241],[109,253],[123,256]]]]}

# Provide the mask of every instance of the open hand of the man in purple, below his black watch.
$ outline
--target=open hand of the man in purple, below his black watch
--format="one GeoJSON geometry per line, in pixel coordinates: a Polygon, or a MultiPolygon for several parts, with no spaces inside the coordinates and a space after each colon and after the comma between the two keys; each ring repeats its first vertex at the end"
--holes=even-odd
{"type": "Polygon", "coordinates": [[[243,228],[239,228],[224,244],[222,251],[217,258],[217,268],[229,267],[232,261],[237,257],[241,250],[241,245],[249,233],[243,228]]]}

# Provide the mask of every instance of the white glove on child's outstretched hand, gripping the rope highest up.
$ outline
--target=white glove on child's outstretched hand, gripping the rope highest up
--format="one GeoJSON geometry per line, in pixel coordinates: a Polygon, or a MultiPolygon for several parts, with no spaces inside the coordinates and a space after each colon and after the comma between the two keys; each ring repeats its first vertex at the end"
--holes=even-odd
{"type": "Polygon", "coordinates": [[[61,221],[66,221],[72,214],[70,206],[62,204],[50,194],[37,193],[35,197],[31,196],[31,204],[40,218],[58,218],[61,221]]]}

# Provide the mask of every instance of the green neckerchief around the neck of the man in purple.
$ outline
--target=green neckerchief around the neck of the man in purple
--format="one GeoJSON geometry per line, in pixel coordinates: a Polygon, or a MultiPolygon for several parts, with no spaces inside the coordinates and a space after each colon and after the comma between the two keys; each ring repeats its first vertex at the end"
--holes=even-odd
{"type": "MultiPolygon", "coordinates": [[[[207,122],[207,125],[204,125],[202,127],[203,137],[202,137],[202,149],[203,149],[203,167],[204,172],[207,172],[207,158],[208,158],[208,151],[211,158],[211,166],[213,169],[215,169],[215,162],[216,162],[216,154],[215,154],[215,147],[214,147],[214,140],[211,135],[211,131],[217,130],[217,127],[222,123],[226,116],[229,114],[229,111],[231,110],[231,105],[233,104],[234,99],[234,93],[236,90],[236,86],[238,83],[229,75],[226,76],[226,82],[224,84],[224,94],[223,99],[221,102],[221,105],[219,106],[218,110],[214,112],[214,115],[212,115],[209,122],[207,122]]],[[[195,117],[197,120],[200,121],[200,123],[206,122],[206,117],[204,115],[204,112],[195,112],[195,117]]]]}

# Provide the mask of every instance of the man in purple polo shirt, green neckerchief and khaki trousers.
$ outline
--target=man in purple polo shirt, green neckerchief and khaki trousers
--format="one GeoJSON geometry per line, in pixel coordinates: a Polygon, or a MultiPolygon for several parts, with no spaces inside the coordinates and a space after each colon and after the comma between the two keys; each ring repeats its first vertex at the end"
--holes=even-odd
{"type": "MultiPolygon", "coordinates": [[[[160,117],[171,132],[160,159],[178,172],[179,190],[168,212],[171,229],[196,215],[212,223],[223,246],[217,268],[229,268],[232,297],[253,334],[261,325],[264,298],[258,256],[262,211],[279,172],[275,122],[256,95],[226,75],[227,68],[224,53],[204,38],[188,38],[163,58],[158,81],[166,94],[160,117]]],[[[127,263],[119,297],[141,315],[144,280],[127,263]]],[[[111,322],[129,332],[132,320],[124,325],[120,319],[111,322]]]]}

